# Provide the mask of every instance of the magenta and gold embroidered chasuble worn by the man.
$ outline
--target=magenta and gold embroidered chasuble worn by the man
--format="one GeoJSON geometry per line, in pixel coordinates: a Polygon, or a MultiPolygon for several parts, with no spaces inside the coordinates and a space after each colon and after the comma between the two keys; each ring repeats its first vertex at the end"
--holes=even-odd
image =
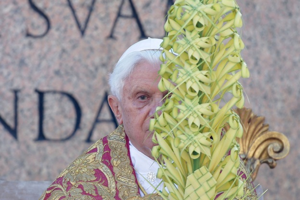
{"type": "MultiPolygon", "coordinates": [[[[248,176],[243,166],[240,166],[240,174],[244,178],[248,176]]],[[[249,198],[245,199],[257,199],[251,181],[244,184],[244,192],[251,193],[249,198]]],[[[61,199],[161,200],[162,198],[155,193],[140,197],[136,174],[130,160],[129,139],[123,126],[119,125],[69,164],[39,198],[39,200],[61,199]]]]}

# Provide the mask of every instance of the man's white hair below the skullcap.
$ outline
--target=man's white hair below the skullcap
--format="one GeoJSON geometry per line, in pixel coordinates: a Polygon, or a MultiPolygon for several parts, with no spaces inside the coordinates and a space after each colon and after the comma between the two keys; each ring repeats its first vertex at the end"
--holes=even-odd
{"type": "Polygon", "coordinates": [[[127,77],[129,77],[135,66],[142,61],[159,64],[161,63],[159,60],[160,54],[161,50],[133,51],[119,60],[115,64],[115,67],[112,73],[109,74],[108,78],[111,94],[121,100],[124,81],[127,77]]]}

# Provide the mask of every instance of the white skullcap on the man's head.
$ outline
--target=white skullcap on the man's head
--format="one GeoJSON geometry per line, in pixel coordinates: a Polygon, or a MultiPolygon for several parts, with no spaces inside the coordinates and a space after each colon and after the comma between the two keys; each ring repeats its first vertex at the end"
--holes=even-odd
{"type": "Polygon", "coordinates": [[[134,44],[132,44],[125,52],[122,54],[122,56],[119,58],[118,62],[121,61],[124,57],[126,57],[129,53],[134,51],[142,51],[142,50],[162,50],[162,47],[160,47],[160,44],[162,42],[162,39],[157,38],[150,38],[143,39],[141,41],[138,41],[134,44]]]}

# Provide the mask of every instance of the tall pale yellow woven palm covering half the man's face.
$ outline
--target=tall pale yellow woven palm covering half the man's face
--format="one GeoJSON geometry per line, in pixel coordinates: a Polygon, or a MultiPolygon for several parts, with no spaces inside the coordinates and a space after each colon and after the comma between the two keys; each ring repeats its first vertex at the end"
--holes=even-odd
{"type": "Polygon", "coordinates": [[[231,109],[243,106],[238,79],[249,76],[241,26],[235,0],[176,0],[168,11],[158,88],[169,93],[150,122],[164,199],[243,195],[235,140],[242,127],[231,109]]]}

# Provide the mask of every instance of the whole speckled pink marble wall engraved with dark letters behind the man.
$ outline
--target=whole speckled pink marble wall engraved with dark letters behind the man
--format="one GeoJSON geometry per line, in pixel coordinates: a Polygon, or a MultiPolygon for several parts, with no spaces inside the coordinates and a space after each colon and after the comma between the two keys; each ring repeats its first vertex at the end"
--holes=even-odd
{"type": "MultiPolygon", "coordinates": [[[[92,0],[70,0],[84,24],[92,0]]],[[[67,0],[33,1],[46,13],[51,27],[41,38],[26,37],[26,31],[41,34],[43,17],[28,1],[0,1],[0,116],[13,126],[12,89],[18,93],[18,139],[0,124],[0,180],[53,180],[91,143],[84,140],[108,89],[106,78],[122,51],[140,39],[132,18],[120,19],[108,38],[121,0],[96,0],[84,36],[76,25],[67,0]],[[38,132],[38,90],[71,93],[80,104],[80,129],[67,141],[35,141],[38,132]]],[[[147,36],[163,36],[167,0],[132,0],[147,36]]],[[[298,199],[300,196],[300,96],[299,0],[237,0],[243,14],[242,55],[251,76],[242,80],[247,106],[264,115],[271,130],[284,133],[290,142],[287,157],[274,169],[262,165],[255,182],[267,189],[264,199],[298,199]]],[[[131,14],[124,0],[122,14],[131,14]]],[[[67,136],[75,112],[69,100],[45,95],[44,132],[50,138],[67,136]]],[[[107,109],[101,117],[109,116],[107,109]]],[[[113,124],[95,127],[96,140],[113,124]]]]}

